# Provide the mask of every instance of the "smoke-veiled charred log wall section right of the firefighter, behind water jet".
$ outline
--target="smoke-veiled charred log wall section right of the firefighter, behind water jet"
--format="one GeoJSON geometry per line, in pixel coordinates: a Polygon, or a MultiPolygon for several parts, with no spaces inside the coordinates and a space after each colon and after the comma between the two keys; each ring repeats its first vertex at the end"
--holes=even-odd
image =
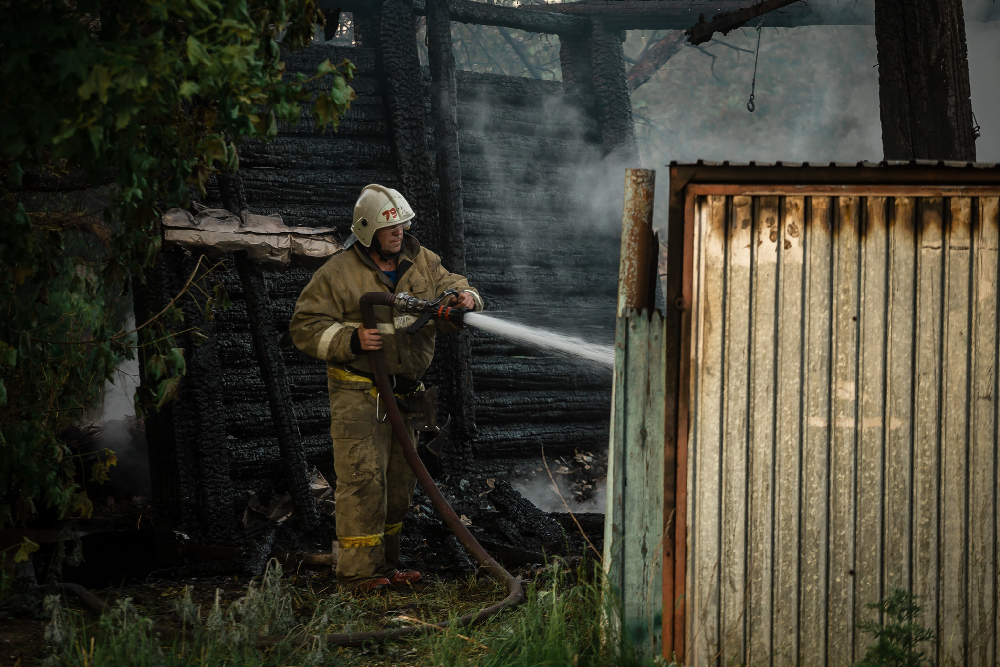
{"type": "MultiPolygon", "coordinates": [[[[590,87],[474,72],[457,83],[469,280],[489,310],[610,332],[618,229],[597,201],[606,183],[590,87]]],[[[610,372],[481,331],[472,341],[477,457],[607,446],[610,372]]]]}

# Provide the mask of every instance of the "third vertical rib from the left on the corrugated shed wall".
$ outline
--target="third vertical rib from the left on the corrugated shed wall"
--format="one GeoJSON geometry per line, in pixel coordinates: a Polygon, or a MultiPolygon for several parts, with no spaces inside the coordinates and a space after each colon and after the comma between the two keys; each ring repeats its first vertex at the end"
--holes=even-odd
{"type": "Polygon", "coordinates": [[[751,267],[750,408],[747,469],[750,507],[747,534],[748,664],[767,664],[772,652],[774,601],[774,398],[775,335],[780,245],[778,198],[757,200],[751,267]]]}

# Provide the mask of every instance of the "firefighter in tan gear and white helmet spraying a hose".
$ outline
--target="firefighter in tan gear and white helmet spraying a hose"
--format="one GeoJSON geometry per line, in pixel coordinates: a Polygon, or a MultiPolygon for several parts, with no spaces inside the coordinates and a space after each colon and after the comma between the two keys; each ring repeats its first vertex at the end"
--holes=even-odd
{"type": "MultiPolygon", "coordinates": [[[[289,323],[295,345],[327,362],[337,473],[337,580],[355,591],[408,584],[421,576],[397,569],[400,529],[416,478],[385,418],[385,398],[374,384],[366,352],[382,350],[393,387],[405,397],[423,388],[420,378],[434,355],[435,335],[432,325],[407,334],[417,316],[401,316],[387,306],[375,307],[378,328],[365,329],[358,299],[373,291],[433,299],[452,288],[458,296],[451,305],[483,308],[464,277],[449,273],[440,257],[405,233],[413,218],[399,192],[366,185],[354,205],[344,249],[313,275],[289,323]]],[[[442,320],[436,327],[456,330],[442,320]]],[[[411,429],[416,442],[413,435],[411,429]]]]}

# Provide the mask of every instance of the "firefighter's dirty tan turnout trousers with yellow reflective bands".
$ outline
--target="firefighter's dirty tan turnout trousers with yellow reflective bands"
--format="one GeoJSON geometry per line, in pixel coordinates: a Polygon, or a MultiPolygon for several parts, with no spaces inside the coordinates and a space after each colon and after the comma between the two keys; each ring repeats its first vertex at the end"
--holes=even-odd
{"type": "MultiPolygon", "coordinates": [[[[376,418],[377,392],[370,384],[368,390],[345,389],[343,384],[328,381],[337,472],[337,581],[353,587],[396,573],[399,533],[416,477],[392,434],[384,405],[378,406],[376,418]],[[379,419],[385,421],[379,424],[379,419]]],[[[407,431],[414,440],[409,424],[407,431]]]]}

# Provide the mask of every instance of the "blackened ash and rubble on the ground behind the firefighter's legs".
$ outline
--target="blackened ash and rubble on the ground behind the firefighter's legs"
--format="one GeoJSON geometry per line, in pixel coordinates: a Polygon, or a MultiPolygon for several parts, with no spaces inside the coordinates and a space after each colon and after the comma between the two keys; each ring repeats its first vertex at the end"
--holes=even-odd
{"type": "MultiPolygon", "coordinates": [[[[141,420],[89,422],[63,435],[71,449],[83,455],[85,465],[97,461],[109,444],[137,452],[136,461],[143,459],[147,468],[138,477],[148,479],[147,459],[139,456],[145,453],[141,420]],[[116,437],[119,432],[128,437],[111,443],[104,433],[109,429],[116,437]]],[[[475,461],[465,474],[439,475],[438,485],[491,555],[508,568],[533,571],[553,558],[578,562],[585,555],[596,558],[602,550],[606,467],[606,452],[575,450],[543,456],[540,450],[533,457],[475,461]]],[[[329,573],[335,563],[336,480],[328,481],[318,469],[310,474],[310,489],[322,516],[317,529],[302,529],[290,494],[279,489],[271,497],[251,494],[244,501],[242,535],[228,545],[215,546],[165,530],[160,508],[149,497],[148,482],[139,492],[132,479],[135,470],[127,475],[115,467],[110,470],[110,479],[88,484],[93,513],[73,525],[84,561],[64,569],[68,581],[100,588],[149,577],[255,574],[271,557],[288,568],[314,572],[329,573]]],[[[477,569],[419,487],[403,526],[401,567],[446,578],[477,569]]],[[[55,547],[55,543],[43,545],[39,556],[48,558],[55,547]]]]}

